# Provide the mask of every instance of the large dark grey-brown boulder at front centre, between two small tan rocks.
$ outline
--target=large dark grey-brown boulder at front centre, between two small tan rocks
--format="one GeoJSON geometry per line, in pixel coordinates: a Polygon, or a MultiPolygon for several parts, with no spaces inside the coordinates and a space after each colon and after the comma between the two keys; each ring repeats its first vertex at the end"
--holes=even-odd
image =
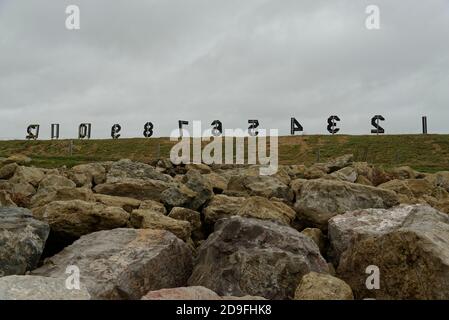
{"type": "Polygon", "coordinates": [[[288,226],[232,217],[200,246],[189,285],[219,295],[292,298],[302,276],[327,272],[316,244],[288,226]]]}

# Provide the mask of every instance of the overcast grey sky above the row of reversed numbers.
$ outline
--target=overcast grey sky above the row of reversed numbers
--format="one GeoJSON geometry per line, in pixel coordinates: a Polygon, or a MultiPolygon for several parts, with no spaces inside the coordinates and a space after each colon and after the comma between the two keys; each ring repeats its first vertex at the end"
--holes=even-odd
{"type": "Polygon", "coordinates": [[[94,138],[114,123],[167,136],[177,121],[289,134],[449,133],[448,0],[0,0],[0,138],[28,124],[81,122],[94,138]],[[81,29],[65,27],[67,5],[81,29]],[[380,7],[381,29],[365,27],[380,7]]]}

